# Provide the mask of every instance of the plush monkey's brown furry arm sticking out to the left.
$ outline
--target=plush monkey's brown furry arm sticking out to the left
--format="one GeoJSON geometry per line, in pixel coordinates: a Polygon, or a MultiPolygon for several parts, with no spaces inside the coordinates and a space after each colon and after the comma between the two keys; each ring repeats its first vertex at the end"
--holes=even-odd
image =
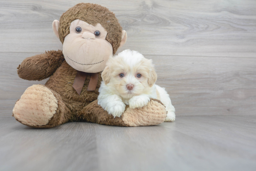
{"type": "Polygon", "coordinates": [[[51,76],[60,67],[64,56],[61,50],[51,50],[44,54],[26,58],[18,69],[19,77],[25,80],[43,80],[51,76]]]}

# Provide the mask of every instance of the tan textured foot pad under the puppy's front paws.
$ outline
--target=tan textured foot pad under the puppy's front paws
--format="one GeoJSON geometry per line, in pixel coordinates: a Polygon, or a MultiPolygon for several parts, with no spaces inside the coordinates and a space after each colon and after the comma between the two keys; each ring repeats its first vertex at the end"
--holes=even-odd
{"type": "Polygon", "coordinates": [[[166,118],[165,106],[158,100],[150,100],[148,105],[139,108],[127,108],[123,113],[122,119],[129,126],[150,126],[164,122],[166,118]]]}

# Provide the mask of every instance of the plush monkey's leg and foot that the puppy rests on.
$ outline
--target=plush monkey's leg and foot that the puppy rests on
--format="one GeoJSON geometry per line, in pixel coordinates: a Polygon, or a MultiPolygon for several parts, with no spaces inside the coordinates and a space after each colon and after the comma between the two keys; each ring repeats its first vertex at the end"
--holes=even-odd
{"type": "Polygon", "coordinates": [[[151,99],[148,105],[131,109],[126,106],[121,117],[113,117],[108,114],[97,100],[88,104],[80,113],[79,117],[87,122],[94,122],[103,125],[115,126],[150,126],[164,122],[166,118],[165,106],[156,99],[151,99]]]}

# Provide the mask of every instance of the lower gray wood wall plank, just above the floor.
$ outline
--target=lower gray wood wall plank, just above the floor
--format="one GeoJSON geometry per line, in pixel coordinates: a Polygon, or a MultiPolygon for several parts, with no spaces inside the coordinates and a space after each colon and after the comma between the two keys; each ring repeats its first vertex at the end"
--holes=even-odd
{"type": "MultiPolygon", "coordinates": [[[[10,116],[27,87],[44,84],[19,78],[17,67],[34,53],[1,53],[0,115],[10,116]]],[[[150,56],[158,80],[170,94],[178,116],[255,115],[256,59],[150,56]]]]}

